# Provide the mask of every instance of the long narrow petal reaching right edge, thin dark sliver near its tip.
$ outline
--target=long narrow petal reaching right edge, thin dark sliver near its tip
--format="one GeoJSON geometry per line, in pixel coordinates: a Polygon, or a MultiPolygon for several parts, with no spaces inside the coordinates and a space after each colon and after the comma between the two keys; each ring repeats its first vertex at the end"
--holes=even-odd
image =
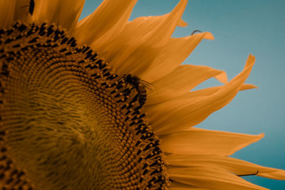
{"type": "Polygon", "coordinates": [[[222,168],[233,174],[255,174],[271,179],[285,180],[285,171],[271,167],[262,167],[240,159],[219,155],[167,155],[166,162],[178,167],[222,168]]]}

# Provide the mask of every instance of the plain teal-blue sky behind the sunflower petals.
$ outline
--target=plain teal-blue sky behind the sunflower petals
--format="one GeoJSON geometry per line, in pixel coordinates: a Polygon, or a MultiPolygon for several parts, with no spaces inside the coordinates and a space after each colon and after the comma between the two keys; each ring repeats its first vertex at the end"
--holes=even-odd
{"type": "MultiPolygon", "coordinates": [[[[92,13],[101,0],[86,0],[81,19],[92,13]]],[[[179,0],[139,0],[130,20],[138,16],[157,16],[170,12],[179,0]]],[[[259,88],[239,92],[226,107],[210,115],[198,127],[247,134],[265,133],[233,157],[266,167],[285,169],[285,1],[283,0],[189,0],[174,37],[192,31],[209,31],[214,41],[204,40],[185,64],[208,65],[225,70],[229,80],[244,67],[250,53],[256,63],[246,83],[259,88]]],[[[221,85],[209,80],[199,85],[221,85]]],[[[244,177],[268,189],[283,190],[285,181],[258,176],[244,177]]]]}

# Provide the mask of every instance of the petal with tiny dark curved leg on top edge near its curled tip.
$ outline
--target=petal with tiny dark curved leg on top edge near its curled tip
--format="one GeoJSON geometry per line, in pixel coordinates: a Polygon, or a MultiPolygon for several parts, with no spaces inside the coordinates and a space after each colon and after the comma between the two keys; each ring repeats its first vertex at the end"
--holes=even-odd
{"type": "Polygon", "coordinates": [[[202,39],[209,36],[212,34],[205,32],[183,38],[171,38],[162,47],[150,68],[140,73],[141,77],[149,82],[154,82],[171,73],[192,53],[202,39]]]}

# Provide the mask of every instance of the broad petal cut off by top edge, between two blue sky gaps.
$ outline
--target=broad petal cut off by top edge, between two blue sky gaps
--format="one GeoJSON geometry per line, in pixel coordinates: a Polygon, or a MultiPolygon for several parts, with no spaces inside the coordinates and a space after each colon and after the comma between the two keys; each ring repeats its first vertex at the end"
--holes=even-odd
{"type": "Polygon", "coordinates": [[[78,43],[93,45],[95,51],[100,52],[101,46],[113,41],[128,22],[133,6],[138,0],[105,0],[102,4],[77,26],[75,34],[78,43]],[[86,35],[87,34],[87,35],[86,35]]]}

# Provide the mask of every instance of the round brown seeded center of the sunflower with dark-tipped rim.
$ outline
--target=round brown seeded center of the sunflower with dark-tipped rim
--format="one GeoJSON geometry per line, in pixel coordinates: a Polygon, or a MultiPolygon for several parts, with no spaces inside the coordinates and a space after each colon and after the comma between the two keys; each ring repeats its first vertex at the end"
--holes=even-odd
{"type": "Polygon", "coordinates": [[[160,140],[137,91],[63,29],[0,30],[0,184],[165,189],[160,140]]]}

